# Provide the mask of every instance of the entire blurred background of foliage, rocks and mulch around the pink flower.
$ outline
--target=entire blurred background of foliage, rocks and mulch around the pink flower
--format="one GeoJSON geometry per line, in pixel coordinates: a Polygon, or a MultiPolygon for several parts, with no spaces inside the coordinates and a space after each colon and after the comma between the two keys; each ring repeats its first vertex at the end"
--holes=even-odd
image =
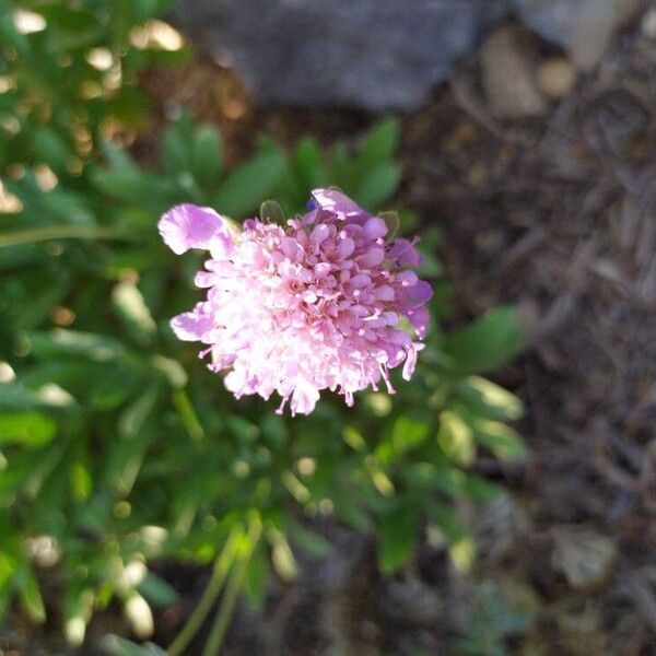
{"type": "Polygon", "coordinates": [[[0,654],[208,653],[235,535],[224,654],[656,654],[655,117],[652,1],[0,0],[0,654]],[[321,185],[434,323],[290,420],[155,224],[321,185]]]}

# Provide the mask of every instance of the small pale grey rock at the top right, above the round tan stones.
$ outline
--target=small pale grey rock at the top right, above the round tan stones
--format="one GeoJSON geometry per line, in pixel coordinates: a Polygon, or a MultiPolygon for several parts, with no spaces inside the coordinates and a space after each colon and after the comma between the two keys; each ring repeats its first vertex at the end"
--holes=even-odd
{"type": "Polygon", "coordinates": [[[581,71],[601,59],[617,28],[639,0],[512,0],[519,17],[540,36],[563,47],[581,71]]]}

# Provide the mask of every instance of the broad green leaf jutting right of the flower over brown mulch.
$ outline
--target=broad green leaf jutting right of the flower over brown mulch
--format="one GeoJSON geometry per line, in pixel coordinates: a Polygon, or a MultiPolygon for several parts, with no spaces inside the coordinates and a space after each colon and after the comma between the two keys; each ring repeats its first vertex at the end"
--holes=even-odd
{"type": "Polygon", "coordinates": [[[514,358],[523,345],[524,336],[515,309],[499,307],[467,328],[448,335],[443,350],[453,360],[453,372],[476,374],[500,367],[514,358]]]}

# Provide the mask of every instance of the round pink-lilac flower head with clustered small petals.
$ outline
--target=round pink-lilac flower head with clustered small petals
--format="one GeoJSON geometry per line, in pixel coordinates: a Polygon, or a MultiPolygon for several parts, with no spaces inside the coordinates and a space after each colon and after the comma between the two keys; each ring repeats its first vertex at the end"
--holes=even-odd
{"type": "Polygon", "coordinates": [[[213,210],[178,206],[160,232],[175,253],[210,251],[196,284],[204,301],[175,317],[179,339],[208,345],[210,370],[231,371],[237,398],[273,391],[292,414],[313,411],[321,389],[353,394],[403,364],[410,379],[421,341],[400,327],[405,317],[423,339],[432,295],[411,270],[417,239],[387,241],[387,225],[335,189],[316,189],[304,216],[285,227],[258,219],[235,232],[213,210]]]}

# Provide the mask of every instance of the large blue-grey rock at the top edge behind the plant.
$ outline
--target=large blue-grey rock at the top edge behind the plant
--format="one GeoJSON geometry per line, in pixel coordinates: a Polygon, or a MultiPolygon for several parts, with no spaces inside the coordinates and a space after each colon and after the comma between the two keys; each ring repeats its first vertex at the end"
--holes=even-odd
{"type": "Polygon", "coordinates": [[[186,0],[173,21],[234,67],[258,105],[412,110],[506,0],[186,0]]]}

